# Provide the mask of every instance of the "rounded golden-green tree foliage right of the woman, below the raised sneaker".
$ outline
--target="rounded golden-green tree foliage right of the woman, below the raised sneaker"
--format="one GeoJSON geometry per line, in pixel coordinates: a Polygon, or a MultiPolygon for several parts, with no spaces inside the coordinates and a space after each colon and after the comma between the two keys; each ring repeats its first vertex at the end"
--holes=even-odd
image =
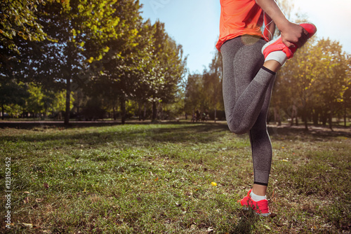
{"type": "MultiPolygon", "coordinates": [[[[293,108],[307,118],[312,113],[314,123],[343,111],[345,91],[350,87],[350,58],[340,44],[329,39],[308,41],[292,60],[286,62],[277,76],[272,106],[282,108],[293,118],[293,108]]],[[[350,105],[348,106],[351,107],[350,105]]]]}

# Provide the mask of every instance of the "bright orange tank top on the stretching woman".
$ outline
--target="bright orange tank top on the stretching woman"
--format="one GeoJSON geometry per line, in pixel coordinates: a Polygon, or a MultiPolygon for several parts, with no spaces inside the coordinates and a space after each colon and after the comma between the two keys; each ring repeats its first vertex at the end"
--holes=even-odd
{"type": "Polygon", "coordinates": [[[249,34],[261,36],[263,10],[255,0],[220,0],[220,36],[216,48],[225,41],[249,34]]]}

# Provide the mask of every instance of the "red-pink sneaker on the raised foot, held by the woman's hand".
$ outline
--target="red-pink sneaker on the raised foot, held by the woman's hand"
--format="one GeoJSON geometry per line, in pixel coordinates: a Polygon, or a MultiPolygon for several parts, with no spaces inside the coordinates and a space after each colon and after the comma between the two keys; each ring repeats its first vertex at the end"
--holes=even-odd
{"type": "MultiPolygon", "coordinates": [[[[317,32],[317,27],[315,27],[313,24],[305,23],[300,24],[300,26],[302,26],[308,32],[309,39],[317,32]]],[[[297,48],[290,49],[286,47],[282,41],[282,37],[278,36],[276,39],[266,43],[265,46],[263,46],[262,53],[265,57],[267,57],[267,55],[274,51],[282,50],[288,57],[288,60],[290,60],[291,57],[293,57],[293,53],[296,52],[296,49],[297,48]]]]}

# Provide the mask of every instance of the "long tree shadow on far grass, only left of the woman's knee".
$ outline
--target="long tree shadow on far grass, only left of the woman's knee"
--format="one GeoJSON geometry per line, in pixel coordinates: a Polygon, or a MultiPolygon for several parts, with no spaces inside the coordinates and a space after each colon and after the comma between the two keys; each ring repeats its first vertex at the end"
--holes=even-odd
{"type": "MultiPolygon", "coordinates": [[[[170,142],[170,143],[182,143],[182,142],[194,142],[194,143],[208,143],[215,141],[218,137],[225,135],[227,125],[215,124],[215,123],[201,123],[198,125],[190,125],[187,123],[169,125],[169,123],[162,123],[161,128],[156,125],[148,128],[143,127],[145,125],[135,126],[136,128],[128,128],[131,125],[120,125],[113,126],[112,128],[105,128],[101,131],[88,130],[88,131],[66,131],[63,129],[58,133],[44,132],[43,134],[28,134],[28,135],[16,135],[16,136],[4,136],[0,137],[1,141],[8,142],[54,142],[59,140],[60,144],[89,144],[89,145],[101,145],[107,144],[107,142],[117,143],[152,143],[152,142],[170,142]],[[169,125],[169,127],[168,127],[169,125]]],[[[95,125],[93,125],[95,126],[95,125]]],[[[149,125],[152,126],[152,125],[149,125]]],[[[100,127],[96,127],[98,130],[100,127]]],[[[33,131],[41,131],[34,129],[33,131]]]]}

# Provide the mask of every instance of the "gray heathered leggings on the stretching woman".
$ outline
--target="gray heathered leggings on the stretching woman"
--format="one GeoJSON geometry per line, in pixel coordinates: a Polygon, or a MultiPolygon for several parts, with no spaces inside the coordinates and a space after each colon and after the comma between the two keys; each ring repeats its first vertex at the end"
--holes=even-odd
{"type": "Polygon", "coordinates": [[[272,163],[267,112],[275,73],[263,67],[261,48],[265,43],[255,36],[239,36],[226,41],[220,51],[228,127],[236,134],[249,132],[254,184],[267,186],[272,163]]]}

